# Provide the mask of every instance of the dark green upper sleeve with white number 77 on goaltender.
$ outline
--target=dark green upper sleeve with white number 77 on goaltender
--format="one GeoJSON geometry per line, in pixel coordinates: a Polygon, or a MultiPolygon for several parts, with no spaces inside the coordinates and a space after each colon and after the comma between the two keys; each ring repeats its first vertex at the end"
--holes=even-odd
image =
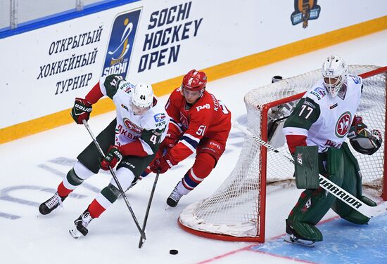
{"type": "Polygon", "coordinates": [[[319,118],[320,107],[310,98],[301,98],[291,115],[286,119],[285,127],[304,128],[309,130],[319,118]]]}

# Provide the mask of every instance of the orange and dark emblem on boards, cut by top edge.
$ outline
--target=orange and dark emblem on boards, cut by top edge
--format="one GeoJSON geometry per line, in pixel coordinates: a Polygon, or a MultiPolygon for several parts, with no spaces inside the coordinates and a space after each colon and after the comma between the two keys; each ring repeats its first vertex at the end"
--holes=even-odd
{"type": "Polygon", "coordinates": [[[297,25],[303,22],[303,28],[307,27],[309,20],[319,18],[321,11],[317,0],[294,0],[294,12],[291,13],[291,23],[297,25]]]}

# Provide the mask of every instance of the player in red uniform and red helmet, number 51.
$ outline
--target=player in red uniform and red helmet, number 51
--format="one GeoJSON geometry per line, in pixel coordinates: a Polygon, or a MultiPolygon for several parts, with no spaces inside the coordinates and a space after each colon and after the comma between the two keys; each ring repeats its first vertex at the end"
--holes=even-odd
{"type": "Polygon", "coordinates": [[[196,152],[194,165],[167,199],[172,207],[210,174],[224,152],[231,129],[231,112],[205,91],[206,84],[204,72],[189,71],[182,86],[171,93],[165,105],[170,124],[167,137],[150,165],[151,171],[165,173],[196,152]]]}

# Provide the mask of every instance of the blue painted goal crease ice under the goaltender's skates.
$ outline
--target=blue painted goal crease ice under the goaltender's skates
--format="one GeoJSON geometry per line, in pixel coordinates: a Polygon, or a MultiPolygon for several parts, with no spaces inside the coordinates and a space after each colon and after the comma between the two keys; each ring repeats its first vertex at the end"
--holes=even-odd
{"type": "Polygon", "coordinates": [[[387,263],[387,213],[372,218],[369,225],[336,218],[317,227],[324,241],[313,248],[288,244],[281,238],[251,250],[313,263],[387,263]]]}

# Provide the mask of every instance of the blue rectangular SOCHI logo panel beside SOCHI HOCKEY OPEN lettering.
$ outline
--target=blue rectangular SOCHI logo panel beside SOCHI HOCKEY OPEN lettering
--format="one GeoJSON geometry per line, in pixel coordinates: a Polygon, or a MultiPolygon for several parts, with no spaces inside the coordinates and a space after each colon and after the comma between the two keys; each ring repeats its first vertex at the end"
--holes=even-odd
{"type": "Polygon", "coordinates": [[[102,77],[110,74],[119,74],[122,78],[126,77],[140,13],[141,9],[137,9],[120,14],[115,18],[110,32],[105,62],[103,62],[102,77]]]}

